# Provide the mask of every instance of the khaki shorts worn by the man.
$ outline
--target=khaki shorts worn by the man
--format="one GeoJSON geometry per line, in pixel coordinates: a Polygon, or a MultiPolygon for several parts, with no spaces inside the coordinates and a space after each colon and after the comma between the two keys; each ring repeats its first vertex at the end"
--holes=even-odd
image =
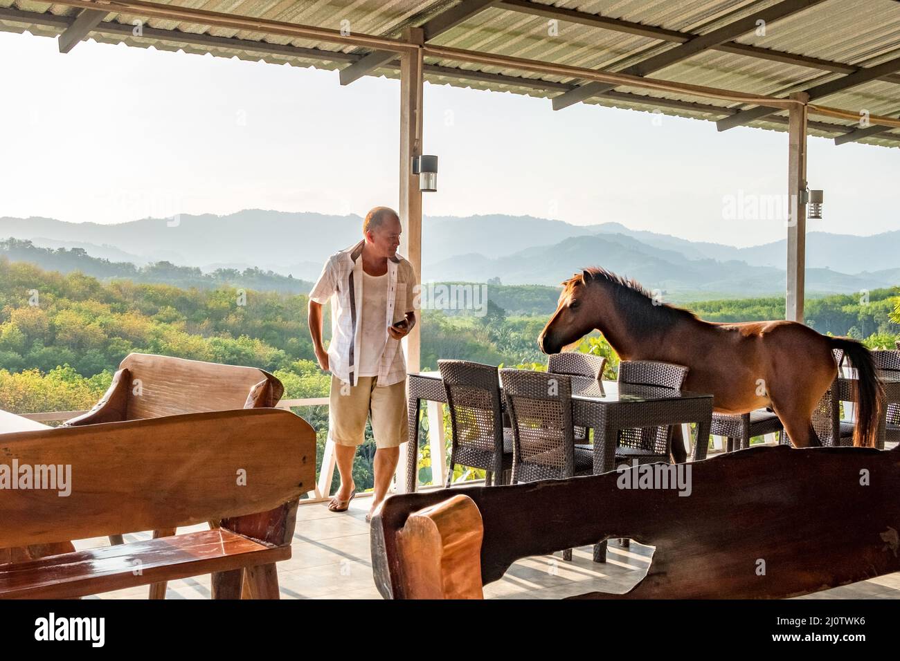
{"type": "Polygon", "coordinates": [[[375,447],[396,448],[407,441],[406,382],[378,386],[377,379],[360,377],[351,386],[331,375],[329,436],[338,445],[362,445],[369,415],[375,447]]]}

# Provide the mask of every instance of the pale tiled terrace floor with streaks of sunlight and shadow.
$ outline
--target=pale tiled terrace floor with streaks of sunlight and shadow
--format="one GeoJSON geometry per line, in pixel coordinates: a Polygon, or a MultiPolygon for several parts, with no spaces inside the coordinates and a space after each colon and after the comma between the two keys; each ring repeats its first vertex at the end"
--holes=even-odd
{"type": "MultiPolygon", "coordinates": [[[[301,505],[293,541],[293,558],[278,564],[283,599],[381,599],[372,578],[368,498],[356,498],[347,513],[329,512],[325,505],[301,505]]],[[[204,526],[198,526],[202,530],[204,526]]],[[[149,533],[126,535],[147,539],[149,533]]],[[[77,542],[79,549],[104,545],[107,540],[77,542]]],[[[633,543],[628,549],[609,544],[606,564],[591,560],[590,547],[575,549],[572,562],[557,554],[520,560],[500,581],[486,585],[485,596],[497,599],[559,599],[592,591],[626,592],[647,571],[653,549],[633,543]]],[[[146,586],[97,595],[102,599],[145,599],[146,586]]],[[[168,599],[208,599],[209,576],[196,576],[168,585],[168,599]]],[[[806,595],[807,599],[898,599],[900,573],[806,595]]]]}

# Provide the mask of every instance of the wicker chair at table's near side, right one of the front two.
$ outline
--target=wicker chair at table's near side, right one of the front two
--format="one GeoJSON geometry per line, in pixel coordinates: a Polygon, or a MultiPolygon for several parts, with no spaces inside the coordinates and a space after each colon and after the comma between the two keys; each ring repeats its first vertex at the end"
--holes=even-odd
{"type": "MultiPolygon", "coordinates": [[[[500,370],[513,426],[512,482],[593,473],[589,450],[575,447],[572,378],[543,371],[500,370]]],[[[572,559],[572,549],[563,550],[572,559]]]]}

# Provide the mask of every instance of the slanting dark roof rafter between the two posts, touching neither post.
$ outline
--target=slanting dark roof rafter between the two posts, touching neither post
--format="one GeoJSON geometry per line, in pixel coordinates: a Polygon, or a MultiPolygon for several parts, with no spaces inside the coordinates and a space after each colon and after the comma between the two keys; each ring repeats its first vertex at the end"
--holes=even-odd
{"type": "MultiPolygon", "coordinates": [[[[761,12],[752,13],[749,16],[730,22],[721,28],[707,32],[706,34],[696,35],[690,40],[682,43],[680,46],[663,51],[651,58],[646,58],[617,73],[628,74],[629,76],[647,76],[654,71],[669,67],[676,62],[697,55],[717,44],[725,43],[725,41],[733,40],[735,37],[754,31],[758,27],[758,21],[767,23],[775,22],[781,18],[790,16],[791,14],[801,12],[815,4],[820,4],[823,1],[824,0],[782,0],[779,4],[774,4],[761,12]]],[[[616,86],[617,85],[606,83],[588,83],[586,85],[581,85],[577,89],[572,90],[572,92],[567,92],[554,97],[554,110],[558,111],[563,108],[568,108],[574,103],[580,103],[585,99],[590,99],[591,96],[602,94],[616,86]]]]}

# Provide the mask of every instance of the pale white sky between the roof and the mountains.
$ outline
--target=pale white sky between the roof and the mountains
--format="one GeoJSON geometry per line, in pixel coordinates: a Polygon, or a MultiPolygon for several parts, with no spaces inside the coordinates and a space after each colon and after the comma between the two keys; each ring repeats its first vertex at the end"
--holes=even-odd
{"type": "MultiPolygon", "coordinates": [[[[400,84],[336,71],[0,32],[0,216],[124,222],[242,209],[365,214],[396,206],[400,84]]],[[[728,200],[782,196],[788,136],[545,99],[425,87],[426,215],[617,221],[750,246],[781,219],[728,200]],[[659,125],[657,125],[659,124],[659,125]]],[[[809,139],[809,231],[900,228],[900,149],[809,139]]]]}

